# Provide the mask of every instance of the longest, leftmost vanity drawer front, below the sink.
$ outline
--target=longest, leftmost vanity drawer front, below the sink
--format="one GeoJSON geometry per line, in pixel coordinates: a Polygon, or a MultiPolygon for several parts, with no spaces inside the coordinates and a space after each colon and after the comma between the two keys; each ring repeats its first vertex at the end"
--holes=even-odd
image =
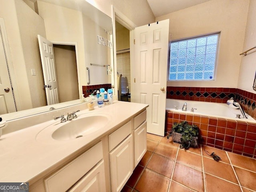
{"type": "Polygon", "coordinates": [[[103,158],[99,142],[44,180],[46,192],[66,191],[103,158]],[[60,182],[61,181],[61,182],[60,182]]]}

